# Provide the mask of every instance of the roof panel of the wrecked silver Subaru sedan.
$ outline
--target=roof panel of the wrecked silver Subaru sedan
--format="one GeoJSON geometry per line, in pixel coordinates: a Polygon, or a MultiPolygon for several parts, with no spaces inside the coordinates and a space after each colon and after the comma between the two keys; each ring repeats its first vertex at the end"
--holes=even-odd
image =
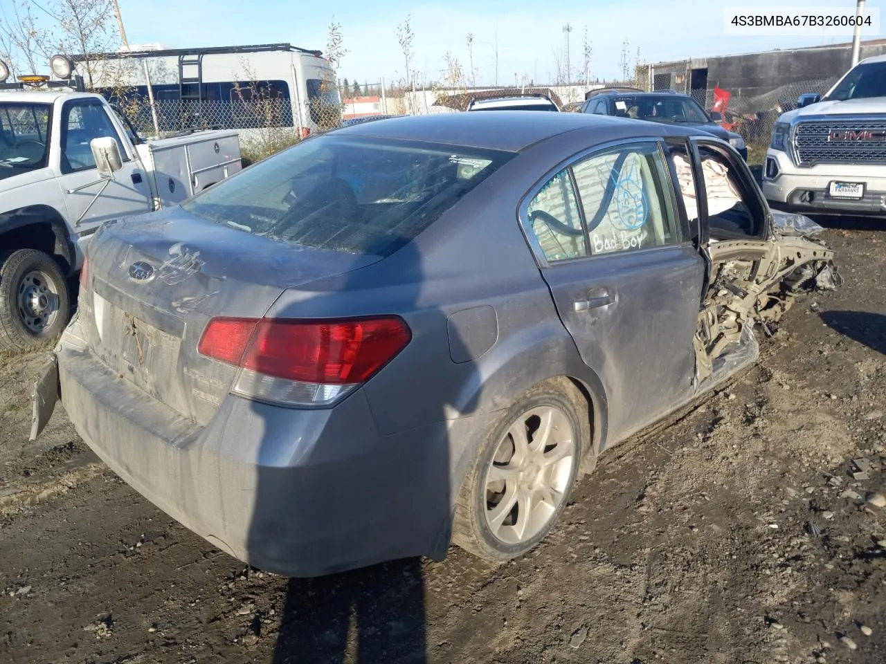
{"type": "Polygon", "coordinates": [[[366,136],[458,145],[480,150],[519,152],[534,143],[584,129],[587,146],[637,135],[708,135],[690,127],[611,118],[588,113],[549,111],[453,112],[392,118],[343,127],[330,135],[366,136]]]}

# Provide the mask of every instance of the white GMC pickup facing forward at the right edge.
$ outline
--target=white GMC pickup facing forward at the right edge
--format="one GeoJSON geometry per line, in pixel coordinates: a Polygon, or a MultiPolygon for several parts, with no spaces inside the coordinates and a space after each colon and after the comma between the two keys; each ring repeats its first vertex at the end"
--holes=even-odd
{"type": "Polygon", "coordinates": [[[886,56],[867,58],[821,97],[781,115],[766,152],[763,193],[774,208],[886,214],[886,56]]]}

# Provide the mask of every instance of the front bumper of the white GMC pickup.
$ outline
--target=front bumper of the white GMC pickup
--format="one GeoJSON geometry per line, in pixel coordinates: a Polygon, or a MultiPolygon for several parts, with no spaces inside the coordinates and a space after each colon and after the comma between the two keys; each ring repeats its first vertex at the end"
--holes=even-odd
{"type": "Polygon", "coordinates": [[[798,168],[784,152],[769,150],[762,189],[770,205],[790,212],[886,215],[886,174],[882,166],[798,168]],[[831,198],[828,188],[833,181],[863,182],[865,195],[859,200],[831,198]]]}

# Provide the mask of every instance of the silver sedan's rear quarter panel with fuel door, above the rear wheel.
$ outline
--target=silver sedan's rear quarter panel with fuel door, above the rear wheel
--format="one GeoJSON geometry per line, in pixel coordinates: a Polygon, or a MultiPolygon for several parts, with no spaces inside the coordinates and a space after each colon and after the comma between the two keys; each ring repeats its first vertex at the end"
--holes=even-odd
{"type": "MultiPolygon", "coordinates": [[[[391,257],[309,290],[288,290],[268,315],[393,313],[407,320],[411,343],[362,388],[383,434],[498,413],[533,385],[568,375],[592,398],[595,443],[605,444],[607,395],[556,313],[517,207],[563,158],[619,132],[636,133],[633,123],[625,124],[532,146],[391,257]]],[[[484,433],[462,441],[459,453],[484,433]]]]}

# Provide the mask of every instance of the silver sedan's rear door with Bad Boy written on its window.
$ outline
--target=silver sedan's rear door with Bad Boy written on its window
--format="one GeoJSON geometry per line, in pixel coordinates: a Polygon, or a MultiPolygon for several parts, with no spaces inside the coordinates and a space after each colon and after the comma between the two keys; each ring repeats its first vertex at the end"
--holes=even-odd
{"type": "Polygon", "coordinates": [[[705,265],[681,210],[657,139],[580,155],[521,208],[563,324],[606,390],[610,440],[693,392],[705,265]]]}

